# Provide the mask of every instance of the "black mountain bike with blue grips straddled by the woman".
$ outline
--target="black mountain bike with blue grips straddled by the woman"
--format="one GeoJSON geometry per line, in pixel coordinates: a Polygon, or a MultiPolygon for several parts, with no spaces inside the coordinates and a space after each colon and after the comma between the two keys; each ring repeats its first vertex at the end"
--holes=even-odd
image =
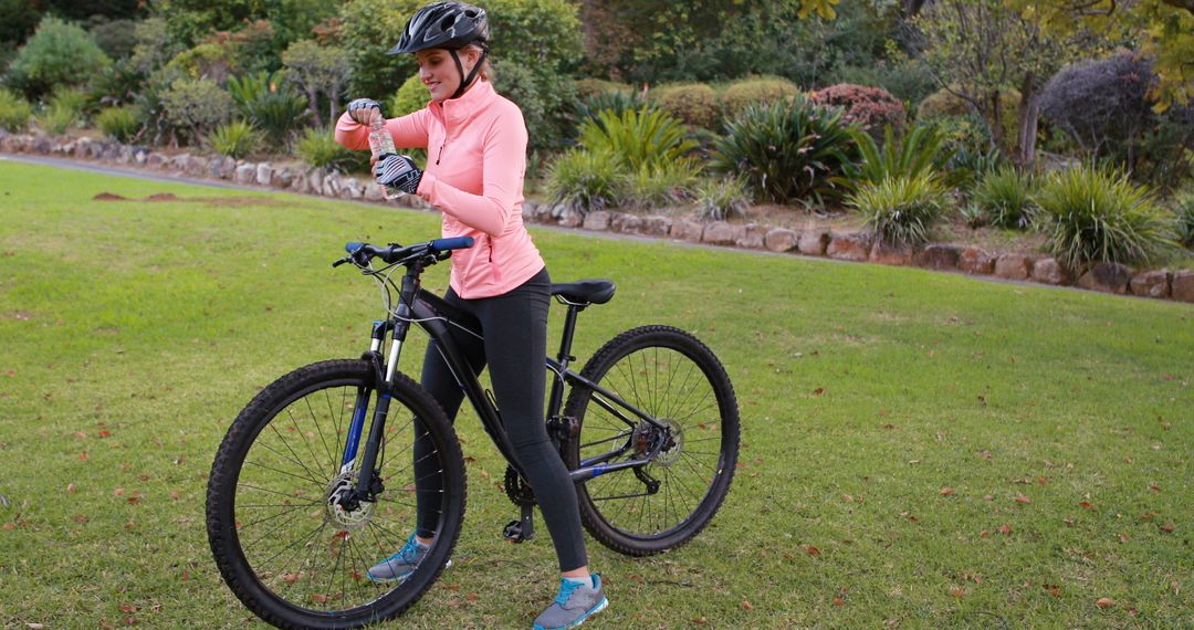
{"type": "MultiPolygon", "coordinates": [[[[450,563],[464,517],[466,462],[438,403],[398,371],[412,325],[436,340],[505,456],[505,490],[519,518],[503,535],[534,536],[534,490],[511,456],[500,409],[449,334],[480,336],[480,327],[420,286],[427,267],[472,245],[469,237],[347,243],[333,266],[352,264],[382,288],[386,317],[373,323],[369,350],[283,376],[229,427],[208,483],[208,538],[224,582],[261,619],[355,628],[393,618],[450,563]],[[416,469],[429,464],[441,483],[417,478],[416,469]],[[420,501],[437,514],[431,550],[400,581],[370,580],[369,567],[414,531],[420,501]]],[[[552,285],[567,313],[559,353],[544,358],[552,378],[544,421],[577,484],[586,531],[615,551],[646,556],[690,541],[721,506],[738,458],[738,403],[713,352],[669,326],[621,333],[573,371],[578,315],[614,292],[609,280],[552,285]]]]}

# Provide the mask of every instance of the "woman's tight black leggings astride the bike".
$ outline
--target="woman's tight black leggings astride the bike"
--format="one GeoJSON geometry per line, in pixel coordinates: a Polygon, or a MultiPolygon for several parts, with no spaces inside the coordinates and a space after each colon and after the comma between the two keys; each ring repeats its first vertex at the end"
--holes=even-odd
{"type": "MultiPolygon", "coordinates": [[[[535,499],[555,544],[560,570],[567,572],[589,563],[577,508],[577,488],[568,477],[560,453],[552,446],[543,425],[543,389],[547,357],[547,309],[550,305],[547,270],[536,273],[517,289],[496,297],[463,299],[448,289],[444,299],[481,322],[484,341],[449,327],[456,347],[467,357],[474,373],[490,365],[493,395],[501,410],[501,421],[513,447],[515,458],[535,490],[535,499]]],[[[439,402],[449,420],[464,393],[453,378],[435,340],[423,358],[423,387],[439,402]]],[[[420,431],[421,433],[421,431],[420,431]]],[[[430,440],[414,441],[414,472],[418,496],[438,493],[443,483],[437,474],[430,440]]],[[[438,506],[419,501],[416,533],[430,538],[436,533],[438,506]]]]}

